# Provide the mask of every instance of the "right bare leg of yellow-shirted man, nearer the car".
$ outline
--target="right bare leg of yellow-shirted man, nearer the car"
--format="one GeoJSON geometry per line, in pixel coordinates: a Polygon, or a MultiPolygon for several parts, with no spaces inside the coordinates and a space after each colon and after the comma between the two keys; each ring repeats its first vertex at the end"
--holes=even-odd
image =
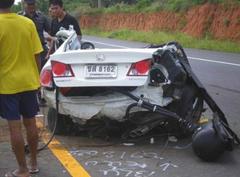
{"type": "Polygon", "coordinates": [[[23,124],[27,131],[27,142],[30,151],[30,170],[36,170],[37,167],[37,147],[38,130],[35,118],[24,118],[23,124]]]}

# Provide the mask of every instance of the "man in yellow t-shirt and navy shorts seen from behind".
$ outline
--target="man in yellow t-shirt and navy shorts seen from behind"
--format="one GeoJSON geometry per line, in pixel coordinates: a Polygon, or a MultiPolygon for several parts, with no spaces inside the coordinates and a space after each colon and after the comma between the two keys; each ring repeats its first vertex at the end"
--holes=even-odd
{"type": "Polygon", "coordinates": [[[5,177],[29,177],[37,172],[38,131],[37,89],[39,83],[39,54],[42,45],[32,20],[11,13],[14,0],[0,0],[0,112],[7,120],[12,149],[18,169],[5,177]],[[30,150],[28,169],[21,120],[26,128],[30,150]]]}

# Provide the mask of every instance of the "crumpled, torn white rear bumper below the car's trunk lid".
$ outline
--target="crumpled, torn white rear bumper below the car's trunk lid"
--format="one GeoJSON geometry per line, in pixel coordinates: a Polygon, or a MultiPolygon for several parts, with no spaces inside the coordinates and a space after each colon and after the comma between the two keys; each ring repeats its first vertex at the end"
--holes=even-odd
{"type": "MultiPolygon", "coordinates": [[[[136,96],[144,95],[144,100],[160,106],[168,105],[172,99],[163,98],[160,87],[144,86],[131,92],[136,96]]],[[[44,89],[44,98],[50,107],[56,107],[55,92],[44,89]]],[[[69,115],[75,121],[84,123],[95,117],[108,117],[113,120],[123,121],[127,107],[135,101],[121,93],[111,93],[102,96],[74,96],[65,97],[59,95],[59,112],[69,115]]],[[[142,108],[133,111],[143,111],[142,108]]]]}

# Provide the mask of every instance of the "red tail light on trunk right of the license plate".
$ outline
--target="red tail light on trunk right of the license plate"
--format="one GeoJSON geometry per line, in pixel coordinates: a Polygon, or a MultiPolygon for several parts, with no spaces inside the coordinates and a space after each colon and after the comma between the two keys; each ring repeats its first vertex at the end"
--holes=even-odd
{"type": "Polygon", "coordinates": [[[142,60],[137,63],[133,63],[128,71],[128,76],[146,76],[148,75],[151,67],[151,60],[142,60]]]}

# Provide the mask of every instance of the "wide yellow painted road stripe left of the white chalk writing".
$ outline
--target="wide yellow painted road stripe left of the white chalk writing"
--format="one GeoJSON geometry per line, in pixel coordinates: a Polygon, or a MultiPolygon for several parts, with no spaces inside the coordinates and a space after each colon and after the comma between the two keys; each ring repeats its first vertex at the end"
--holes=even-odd
{"type": "MultiPolygon", "coordinates": [[[[45,141],[45,140],[44,140],[45,141]]],[[[64,148],[59,141],[53,139],[48,148],[63,164],[72,177],[91,177],[78,161],[64,148]]]]}

